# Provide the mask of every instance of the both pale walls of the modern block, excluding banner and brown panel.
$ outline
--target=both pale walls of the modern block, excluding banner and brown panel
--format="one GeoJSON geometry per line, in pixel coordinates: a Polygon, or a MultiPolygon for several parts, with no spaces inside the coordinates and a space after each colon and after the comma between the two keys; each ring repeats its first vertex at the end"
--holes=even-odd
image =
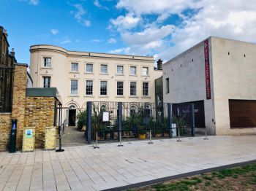
{"type": "Polygon", "coordinates": [[[211,100],[206,100],[203,46],[203,42],[200,42],[163,65],[164,101],[182,103],[204,100],[208,133],[256,133],[256,127],[230,128],[228,105],[229,99],[256,100],[256,45],[212,36],[209,38],[211,100]],[[167,77],[170,79],[168,94],[165,91],[167,77]]]}

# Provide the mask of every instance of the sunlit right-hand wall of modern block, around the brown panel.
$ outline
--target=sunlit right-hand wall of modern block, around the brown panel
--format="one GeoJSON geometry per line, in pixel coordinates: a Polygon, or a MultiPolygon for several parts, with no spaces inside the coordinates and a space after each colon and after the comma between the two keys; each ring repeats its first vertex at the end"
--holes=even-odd
{"type": "Polygon", "coordinates": [[[211,42],[217,135],[256,133],[256,128],[230,128],[228,106],[229,99],[256,100],[256,44],[216,37],[211,42]]]}

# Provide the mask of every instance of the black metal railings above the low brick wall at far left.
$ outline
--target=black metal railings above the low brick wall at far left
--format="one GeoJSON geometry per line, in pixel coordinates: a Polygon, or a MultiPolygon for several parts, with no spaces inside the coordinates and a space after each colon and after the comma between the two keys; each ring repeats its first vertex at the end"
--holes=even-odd
{"type": "Polygon", "coordinates": [[[0,66],[0,112],[12,112],[13,70],[0,66]]]}

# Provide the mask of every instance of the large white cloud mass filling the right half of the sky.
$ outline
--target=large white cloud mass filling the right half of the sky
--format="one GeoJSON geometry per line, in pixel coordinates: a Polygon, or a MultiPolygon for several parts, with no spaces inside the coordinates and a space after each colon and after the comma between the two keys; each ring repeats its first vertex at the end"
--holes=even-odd
{"type": "Polygon", "coordinates": [[[116,7],[128,12],[114,19],[116,23],[110,22],[129,54],[153,54],[166,61],[208,36],[256,42],[255,0],[119,0],[116,7]],[[126,27],[127,15],[139,21],[126,27]],[[148,20],[151,15],[157,17],[148,20]],[[178,16],[179,23],[170,23],[171,15],[178,16]],[[138,23],[142,23],[140,30],[135,31],[138,23]]]}

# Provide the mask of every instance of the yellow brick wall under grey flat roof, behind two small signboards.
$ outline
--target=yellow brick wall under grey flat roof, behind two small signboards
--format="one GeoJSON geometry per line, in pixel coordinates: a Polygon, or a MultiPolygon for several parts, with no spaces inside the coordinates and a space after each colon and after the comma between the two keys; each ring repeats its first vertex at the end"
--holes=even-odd
{"type": "Polygon", "coordinates": [[[45,128],[53,126],[54,97],[26,97],[25,127],[35,127],[35,148],[45,147],[45,128]]]}

